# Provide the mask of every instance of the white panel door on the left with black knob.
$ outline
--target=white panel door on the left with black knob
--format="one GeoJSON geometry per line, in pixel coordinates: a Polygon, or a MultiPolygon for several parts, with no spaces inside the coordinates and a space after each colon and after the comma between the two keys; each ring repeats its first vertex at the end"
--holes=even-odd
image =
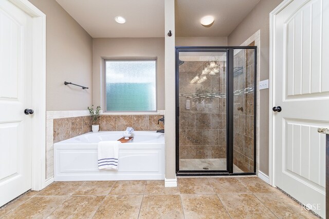
{"type": "Polygon", "coordinates": [[[31,22],[0,1],[0,206],[31,188],[31,22]]]}

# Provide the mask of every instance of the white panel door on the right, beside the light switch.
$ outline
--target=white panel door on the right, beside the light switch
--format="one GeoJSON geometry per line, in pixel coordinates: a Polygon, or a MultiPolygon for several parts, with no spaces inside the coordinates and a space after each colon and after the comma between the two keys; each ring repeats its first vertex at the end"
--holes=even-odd
{"type": "Polygon", "coordinates": [[[273,47],[275,185],[325,215],[329,126],[329,1],[294,0],[276,15],[273,47]]]}

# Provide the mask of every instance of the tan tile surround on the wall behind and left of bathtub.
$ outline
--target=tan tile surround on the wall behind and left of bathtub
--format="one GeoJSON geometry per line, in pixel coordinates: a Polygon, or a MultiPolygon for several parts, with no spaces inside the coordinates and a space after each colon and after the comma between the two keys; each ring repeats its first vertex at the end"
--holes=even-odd
{"type": "MultiPolygon", "coordinates": [[[[96,124],[100,131],[124,131],[133,127],[136,131],[164,129],[158,124],[163,115],[101,115],[96,124]]],[[[88,111],[47,112],[46,179],[53,176],[53,144],[92,131],[92,117],[88,111]]]]}

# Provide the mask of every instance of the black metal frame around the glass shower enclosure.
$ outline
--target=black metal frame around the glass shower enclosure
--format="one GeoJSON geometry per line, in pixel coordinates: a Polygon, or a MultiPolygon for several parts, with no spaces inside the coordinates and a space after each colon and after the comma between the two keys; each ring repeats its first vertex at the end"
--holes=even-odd
{"type": "Polygon", "coordinates": [[[175,47],[175,107],[176,107],[176,175],[254,175],[256,174],[256,132],[257,130],[257,46],[230,47],[175,47]],[[254,165],[253,172],[233,173],[233,57],[234,49],[254,49],[254,165]],[[179,52],[225,52],[226,53],[226,170],[179,170],[179,52]]]}

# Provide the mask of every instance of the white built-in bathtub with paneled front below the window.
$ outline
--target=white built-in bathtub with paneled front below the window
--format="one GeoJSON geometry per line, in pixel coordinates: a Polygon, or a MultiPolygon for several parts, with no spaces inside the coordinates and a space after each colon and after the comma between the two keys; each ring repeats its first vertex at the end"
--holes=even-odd
{"type": "Polygon", "coordinates": [[[165,136],[135,131],[119,146],[118,170],[99,170],[97,144],[116,141],[122,131],[89,132],[53,145],[54,181],[164,180],[165,136]]]}

